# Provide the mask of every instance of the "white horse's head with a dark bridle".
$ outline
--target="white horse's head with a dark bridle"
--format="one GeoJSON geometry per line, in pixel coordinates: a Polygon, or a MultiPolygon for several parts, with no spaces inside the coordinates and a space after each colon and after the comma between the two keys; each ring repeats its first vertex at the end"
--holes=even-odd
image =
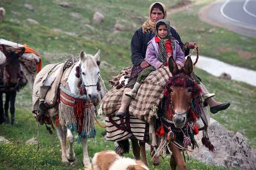
{"type": "Polygon", "coordinates": [[[100,65],[100,50],[94,56],[80,53],[81,58],[81,75],[85,86],[86,95],[91,101],[98,98],[97,88],[99,87],[99,65],[100,65]]]}

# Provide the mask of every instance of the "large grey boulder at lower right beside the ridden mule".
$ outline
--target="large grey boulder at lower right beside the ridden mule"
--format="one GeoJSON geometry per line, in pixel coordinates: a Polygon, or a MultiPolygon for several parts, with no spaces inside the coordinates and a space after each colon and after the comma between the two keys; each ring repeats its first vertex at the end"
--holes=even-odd
{"type": "Polygon", "coordinates": [[[195,136],[199,148],[192,152],[190,157],[196,158],[210,165],[225,166],[228,168],[255,169],[256,149],[247,144],[247,140],[240,132],[234,134],[217,121],[212,122],[208,134],[214,152],[210,152],[202,145],[202,131],[195,136]]]}

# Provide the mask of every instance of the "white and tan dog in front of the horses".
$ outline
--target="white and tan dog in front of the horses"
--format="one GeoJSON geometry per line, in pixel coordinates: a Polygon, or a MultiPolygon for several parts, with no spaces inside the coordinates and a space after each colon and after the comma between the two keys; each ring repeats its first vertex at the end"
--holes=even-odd
{"type": "Polygon", "coordinates": [[[149,170],[140,160],[124,158],[114,151],[101,151],[92,158],[92,170],[149,170]]]}

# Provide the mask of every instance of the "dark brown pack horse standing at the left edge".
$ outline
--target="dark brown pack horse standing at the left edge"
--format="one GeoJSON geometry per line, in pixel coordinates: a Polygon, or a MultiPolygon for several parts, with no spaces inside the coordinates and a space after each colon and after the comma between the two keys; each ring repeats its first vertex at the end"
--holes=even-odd
{"type": "Polygon", "coordinates": [[[0,44],[0,50],[6,56],[4,64],[0,65],[0,123],[9,123],[9,103],[11,112],[11,124],[14,124],[15,97],[17,91],[27,84],[27,80],[20,69],[19,57],[25,52],[25,48],[13,48],[0,44]],[[3,94],[5,104],[3,109],[3,94]]]}

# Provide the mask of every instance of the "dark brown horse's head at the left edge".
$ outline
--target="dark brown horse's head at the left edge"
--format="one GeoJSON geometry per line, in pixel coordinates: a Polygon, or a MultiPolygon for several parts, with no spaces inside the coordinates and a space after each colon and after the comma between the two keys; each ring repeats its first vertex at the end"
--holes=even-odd
{"type": "Polygon", "coordinates": [[[3,53],[6,56],[5,69],[9,82],[6,84],[9,87],[15,87],[20,73],[19,57],[25,52],[25,48],[17,48],[17,50],[7,49],[2,45],[3,53]]]}

